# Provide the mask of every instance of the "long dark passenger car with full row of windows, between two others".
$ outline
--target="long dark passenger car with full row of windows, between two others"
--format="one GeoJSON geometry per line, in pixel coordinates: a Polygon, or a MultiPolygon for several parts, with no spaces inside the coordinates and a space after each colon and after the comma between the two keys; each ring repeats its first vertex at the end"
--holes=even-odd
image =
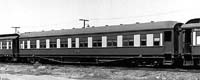
{"type": "Polygon", "coordinates": [[[20,59],[60,63],[173,65],[182,23],[162,21],[20,34],[20,59]]]}

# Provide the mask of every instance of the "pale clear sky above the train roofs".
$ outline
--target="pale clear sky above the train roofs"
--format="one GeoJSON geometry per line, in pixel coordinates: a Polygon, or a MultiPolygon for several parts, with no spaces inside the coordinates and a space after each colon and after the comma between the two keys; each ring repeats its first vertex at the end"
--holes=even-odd
{"type": "Polygon", "coordinates": [[[0,0],[0,34],[200,18],[200,0],[0,0]]]}

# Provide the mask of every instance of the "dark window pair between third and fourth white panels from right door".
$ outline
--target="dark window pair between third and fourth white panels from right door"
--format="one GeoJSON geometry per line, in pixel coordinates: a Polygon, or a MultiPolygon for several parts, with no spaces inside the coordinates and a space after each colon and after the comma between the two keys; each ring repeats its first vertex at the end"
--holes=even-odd
{"type": "Polygon", "coordinates": [[[133,46],[134,45],[134,35],[124,35],[123,36],[123,46],[133,46]]]}

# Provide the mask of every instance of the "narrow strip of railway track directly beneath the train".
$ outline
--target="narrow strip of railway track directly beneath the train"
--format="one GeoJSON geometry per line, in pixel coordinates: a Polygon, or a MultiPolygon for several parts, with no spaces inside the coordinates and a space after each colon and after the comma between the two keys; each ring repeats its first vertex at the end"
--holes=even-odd
{"type": "Polygon", "coordinates": [[[160,67],[153,67],[153,66],[105,66],[105,65],[94,65],[94,64],[30,64],[30,63],[0,63],[6,65],[30,65],[30,66],[71,66],[71,67],[82,67],[82,68],[101,68],[101,69],[116,69],[116,70],[146,70],[146,71],[170,71],[170,72],[191,72],[191,73],[200,73],[200,67],[181,67],[176,68],[172,66],[160,66],[160,67]]]}

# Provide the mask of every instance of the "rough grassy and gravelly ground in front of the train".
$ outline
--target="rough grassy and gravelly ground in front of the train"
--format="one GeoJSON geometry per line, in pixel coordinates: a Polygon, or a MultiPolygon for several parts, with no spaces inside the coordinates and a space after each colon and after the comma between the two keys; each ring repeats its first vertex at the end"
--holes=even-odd
{"type": "Polygon", "coordinates": [[[184,69],[0,64],[0,80],[200,80],[199,75],[184,69]]]}

